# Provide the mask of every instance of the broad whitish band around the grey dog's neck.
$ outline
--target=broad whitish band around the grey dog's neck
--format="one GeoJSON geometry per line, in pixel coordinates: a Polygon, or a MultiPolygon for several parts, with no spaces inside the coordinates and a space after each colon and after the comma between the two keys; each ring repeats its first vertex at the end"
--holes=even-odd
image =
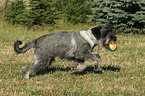
{"type": "Polygon", "coordinates": [[[94,47],[94,45],[97,43],[97,39],[92,34],[91,30],[80,31],[80,35],[91,45],[91,47],[94,47]]]}

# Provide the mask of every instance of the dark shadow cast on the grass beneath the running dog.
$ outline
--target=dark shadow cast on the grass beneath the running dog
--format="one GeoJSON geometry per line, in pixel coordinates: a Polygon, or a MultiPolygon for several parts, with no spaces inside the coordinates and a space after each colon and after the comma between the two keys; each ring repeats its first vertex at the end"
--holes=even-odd
{"type": "MultiPolygon", "coordinates": [[[[70,69],[71,68],[69,68],[69,67],[67,67],[67,68],[52,67],[52,68],[48,68],[47,70],[45,70],[43,72],[37,73],[37,75],[44,75],[44,74],[48,74],[48,73],[54,73],[55,71],[67,71],[67,72],[69,72],[70,69]]],[[[94,67],[88,66],[83,72],[81,72],[81,73],[75,73],[75,75],[84,75],[84,74],[87,74],[87,73],[102,74],[103,70],[104,71],[110,70],[110,71],[114,71],[114,72],[119,72],[120,69],[121,68],[118,67],[118,66],[107,66],[107,67],[103,66],[101,71],[95,71],[94,67]]]]}

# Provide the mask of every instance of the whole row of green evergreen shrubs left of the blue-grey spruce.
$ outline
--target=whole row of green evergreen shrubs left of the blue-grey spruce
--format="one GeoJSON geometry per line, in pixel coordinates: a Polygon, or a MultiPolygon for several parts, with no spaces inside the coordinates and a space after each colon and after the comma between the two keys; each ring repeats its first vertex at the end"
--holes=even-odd
{"type": "Polygon", "coordinates": [[[90,0],[16,0],[10,2],[5,12],[6,20],[13,24],[34,25],[55,24],[58,19],[70,23],[86,23],[91,13],[90,0]]]}

